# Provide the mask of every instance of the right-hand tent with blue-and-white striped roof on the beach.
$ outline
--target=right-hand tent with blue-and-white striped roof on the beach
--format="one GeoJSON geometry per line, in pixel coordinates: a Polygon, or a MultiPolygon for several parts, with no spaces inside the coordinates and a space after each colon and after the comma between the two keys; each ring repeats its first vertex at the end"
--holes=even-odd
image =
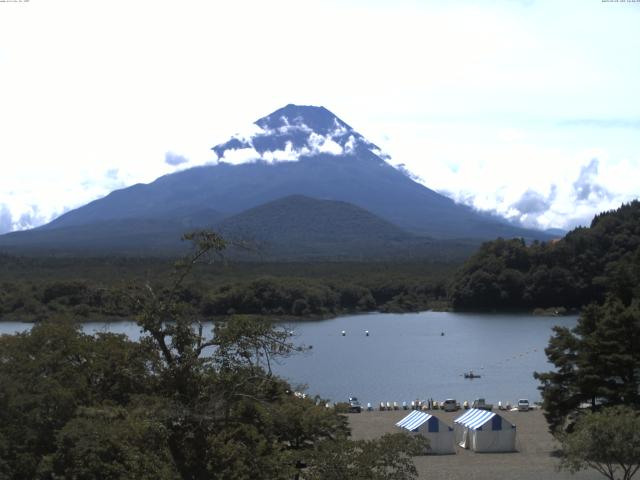
{"type": "Polygon", "coordinates": [[[516,426],[497,413],[472,408],[453,421],[456,442],[474,452],[513,452],[516,426]]]}

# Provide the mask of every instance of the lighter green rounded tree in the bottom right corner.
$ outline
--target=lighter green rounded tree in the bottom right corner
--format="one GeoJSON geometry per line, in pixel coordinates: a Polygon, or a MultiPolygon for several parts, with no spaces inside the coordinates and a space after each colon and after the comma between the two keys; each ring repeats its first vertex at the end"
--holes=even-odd
{"type": "Polygon", "coordinates": [[[586,413],[560,441],[560,466],[572,473],[593,468],[609,480],[630,480],[640,470],[638,410],[618,406],[586,413]]]}

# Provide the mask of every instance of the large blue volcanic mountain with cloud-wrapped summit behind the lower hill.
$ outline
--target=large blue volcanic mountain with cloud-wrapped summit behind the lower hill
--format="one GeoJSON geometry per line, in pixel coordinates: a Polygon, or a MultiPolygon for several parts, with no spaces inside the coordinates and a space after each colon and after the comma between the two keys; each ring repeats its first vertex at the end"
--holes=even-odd
{"type": "MultiPolygon", "coordinates": [[[[216,158],[210,165],[114,191],[37,229],[4,235],[0,248],[30,245],[73,250],[97,242],[96,247],[106,250],[172,249],[180,231],[224,227],[225,219],[228,226],[232,216],[300,195],[339,202],[332,208],[349,214],[357,211],[361,215],[365,210],[379,220],[373,224],[381,232],[388,232],[391,225],[403,232],[405,240],[411,237],[413,241],[416,236],[474,241],[498,236],[547,238],[543,232],[518,228],[456,204],[415,182],[392,166],[375,144],[324,107],[287,105],[256,121],[249,133],[235,135],[212,150],[216,158]]],[[[317,215],[317,204],[297,203],[296,218],[308,220],[317,215]],[[309,217],[300,209],[307,209],[309,217]]],[[[283,204],[271,204],[269,212],[278,205],[283,204]]],[[[264,231],[265,217],[259,212],[247,212],[245,231],[264,231]]],[[[335,214],[341,226],[332,224],[331,216],[322,224],[326,232],[348,234],[349,242],[358,235],[371,238],[372,224],[359,233],[358,215],[351,231],[343,228],[344,215],[335,214]]],[[[287,220],[290,224],[291,219],[287,220]]],[[[295,236],[293,231],[289,227],[278,230],[283,245],[292,245],[289,236],[295,236]]],[[[300,235],[296,238],[298,247],[304,249],[304,240],[300,235]]],[[[336,234],[335,238],[339,243],[343,237],[336,234]]]]}

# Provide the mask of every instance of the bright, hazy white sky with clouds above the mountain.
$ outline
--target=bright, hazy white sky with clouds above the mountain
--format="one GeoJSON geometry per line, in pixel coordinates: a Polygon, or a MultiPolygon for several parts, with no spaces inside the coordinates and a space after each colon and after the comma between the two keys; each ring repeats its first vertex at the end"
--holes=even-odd
{"type": "Polygon", "coordinates": [[[0,0],[0,232],[323,105],[430,188],[572,227],[640,193],[640,2],[0,0]]]}

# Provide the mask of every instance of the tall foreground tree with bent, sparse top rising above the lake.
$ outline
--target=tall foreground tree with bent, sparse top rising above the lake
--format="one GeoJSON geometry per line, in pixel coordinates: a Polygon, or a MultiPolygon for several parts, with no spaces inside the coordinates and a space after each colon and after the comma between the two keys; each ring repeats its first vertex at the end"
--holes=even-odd
{"type": "Polygon", "coordinates": [[[207,339],[197,312],[181,301],[180,292],[194,265],[226,243],[210,232],[185,239],[193,242],[194,251],[176,265],[170,288],[156,294],[147,285],[147,294],[138,296],[139,324],[148,334],[143,341],[161,357],[159,393],[170,408],[156,415],[167,426],[172,460],[183,479],[210,478],[214,472],[220,472],[214,478],[225,478],[229,469],[242,465],[271,471],[284,449],[265,435],[264,422],[259,422],[263,412],[255,404],[273,402],[286,388],[262,369],[262,361],[286,355],[292,346],[284,341],[286,333],[246,318],[218,325],[207,339]],[[213,355],[204,354],[212,347],[213,355]],[[245,448],[229,447],[233,444],[245,448]]]}

